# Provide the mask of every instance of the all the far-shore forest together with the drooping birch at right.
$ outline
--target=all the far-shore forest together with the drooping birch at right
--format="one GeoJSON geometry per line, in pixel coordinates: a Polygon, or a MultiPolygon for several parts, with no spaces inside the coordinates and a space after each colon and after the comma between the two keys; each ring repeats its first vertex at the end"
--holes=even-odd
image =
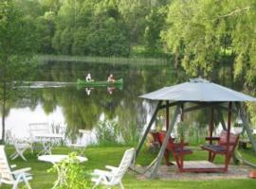
{"type": "Polygon", "coordinates": [[[38,54],[166,57],[192,76],[229,65],[256,81],[254,0],[5,0],[14,2],[38,54]],[[35,38],[36,36],[36,38],[35,38]],[[36,40],[35,40],[36,39],[36,40]]]}

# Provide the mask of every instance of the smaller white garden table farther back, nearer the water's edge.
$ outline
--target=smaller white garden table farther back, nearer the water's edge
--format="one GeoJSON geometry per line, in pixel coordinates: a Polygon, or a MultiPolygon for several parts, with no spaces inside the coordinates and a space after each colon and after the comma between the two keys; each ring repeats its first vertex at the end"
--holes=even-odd
{"type": "Polygon", "coordinates": [[[41,141],[43,145],[43,150],[38,153],[38,155],[46,155],[51,154],[51,148],[60,140],[64,139],[63,134],[55,134],[55,133],[45,133],[45,134],[35,134],[39,141],[41,141]]]}

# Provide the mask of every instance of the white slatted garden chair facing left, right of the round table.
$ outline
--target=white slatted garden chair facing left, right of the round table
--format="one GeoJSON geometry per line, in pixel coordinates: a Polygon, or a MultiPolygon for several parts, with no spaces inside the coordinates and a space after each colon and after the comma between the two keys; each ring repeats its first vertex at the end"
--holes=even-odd
{"type": "Polygon", "coordinates": [[[119,167],[106,165],[106,168],[110,171],[95,169],[93,172],[93,176],[95,176],[95,178],[92,179],[92,181],[95,182],[93,188],[96,188],[100,184],[105,185],[107,188],[119,184],[120,188],[124,189],[121,179],[133,162],[134,156],[135,148],[127,149],[119,163],[119,167]]]}

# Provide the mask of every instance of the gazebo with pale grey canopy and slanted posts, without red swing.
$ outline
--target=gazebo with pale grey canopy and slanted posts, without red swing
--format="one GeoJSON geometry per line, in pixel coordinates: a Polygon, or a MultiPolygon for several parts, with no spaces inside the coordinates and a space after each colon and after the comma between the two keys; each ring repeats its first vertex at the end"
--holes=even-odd
{"type": "MultiPolygon", "coordinates": [[[[212,83],[206,79],[202,78],[193,78],[190,81],[177,84],[171,87],[164,87],[155,92],[149,94],[143,94],[139,97],[144,99],[156,100],[158,104],[155,108],[155,112],[148,123],[147,128],[145,129],[143,136],[137,146],[137,156],[141,149],[141,146],[144,144],[148,133],[150,132],[153,123],[155,122],[155,117],[157,112],[160,110],[165,110],[166,112],[166,137],[163,140],[163,143],[160,147],[160,150],[155,158],[155,161],[151,163],[150,167],[152,168],[150,172],[150,177],[155,178],[156,172],[159,168],[159,165],[163,159],[164,151],[168,146],[171,132],[174,129],[174,124],[177,119],[178,114],[183,114],[187,112],[192,112],[200,109],[210,109],[210,137],[212,138],[212,130],[214,123],[221,123],[222,128],[226,130],[227,135],[227,149],[229,149],[230,144],[230,126],[231,126],[231,113],[238,115],[243,122],[243,127],[247,131],[248,138],[251,142],[253,150],[256,151],[256,141],[253,138],[252,131],[247,121],[247,115],[243,109],[242,103],[246,101],[256,101],[256,98],[243,94],[240,92],[233,91],[224,86],[212,83]],[[174,115],[170,122],[170,108],[174,108],[174,115]],[[228,124],[226,125],[225,119],[223,116],[223,111],[228,112],[228,124]]],[[[211,143],[211,141],[210,141],[211,143]]],[[[229,150],[228,150],[229,151],[229,150]]],[[[228,152],[227,152],[228,154],[228,152]]],[[[221,169],[223,172],[228,171],[228,155],[226,155],[225,167],[221,169]]],[[[190,171],[190,169],[187,169],[190,171]]],[[[194,170],[194,169],[191,169],[194,170]]],[[[211,169],[202,169],[208,170],[211,169]]],[[[212,169],[216,170],[216,169],[212,169]]],[[[196,172],[200,172],[196,171],[196,172]]],[[[214,171],[213,171],[214,172],[214,171]]]]}

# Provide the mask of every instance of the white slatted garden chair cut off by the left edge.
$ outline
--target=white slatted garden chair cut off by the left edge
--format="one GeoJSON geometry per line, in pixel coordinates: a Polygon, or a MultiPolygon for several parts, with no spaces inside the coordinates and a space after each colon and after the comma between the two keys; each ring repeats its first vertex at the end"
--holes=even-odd
{"type": "MultiPolygon", "coordinates": [[[[11,168],[16,165],[11,165],[11,168]]],[[[0,185],[6,183],[12,185],[12,189],[17,189],[20,182],[25,182],[27,189],[31,189],[28,180],[32,180],[31,174],[28,171],[31,168],[23,168],[11,171],[7,160],[5,146],[0,146],[0,185]]]]}

